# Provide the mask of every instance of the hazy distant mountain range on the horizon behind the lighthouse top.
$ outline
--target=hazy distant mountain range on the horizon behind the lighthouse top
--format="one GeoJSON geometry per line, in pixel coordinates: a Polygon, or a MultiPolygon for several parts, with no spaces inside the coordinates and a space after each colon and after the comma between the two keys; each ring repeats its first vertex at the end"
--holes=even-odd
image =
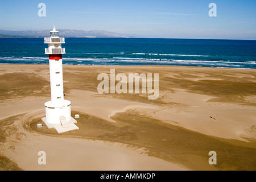
{"type": "MultiPolygon", "coordinates": [[[[25,30],[25,31],[11,31],[11,30],[0,30],[0,37],[47,37],[49,36],[50,30],[25,30]]],[[[59,29],[60,36],[69,38],[85,38],[85,37],[96,37],[96,38],[130,38],[130,36],[121,35],[116,32],[108,32],[105,30],[70,30],[70,29],[59,29]]]]}

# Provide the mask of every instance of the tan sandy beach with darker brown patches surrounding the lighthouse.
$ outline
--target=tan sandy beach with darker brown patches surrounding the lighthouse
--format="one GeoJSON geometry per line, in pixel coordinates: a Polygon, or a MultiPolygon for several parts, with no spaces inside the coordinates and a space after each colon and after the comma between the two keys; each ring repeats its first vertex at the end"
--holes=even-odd
{"type": "Polygon", "coordinates": [[[79,130],[58,134],[36,127],[51,100],[49,65],[0,64],[0,170],[256,170],[253,69],[63,65],[63,78],[79,130]],[[110,69],[159,73],[159,97],[99,94],[110,69]]]}

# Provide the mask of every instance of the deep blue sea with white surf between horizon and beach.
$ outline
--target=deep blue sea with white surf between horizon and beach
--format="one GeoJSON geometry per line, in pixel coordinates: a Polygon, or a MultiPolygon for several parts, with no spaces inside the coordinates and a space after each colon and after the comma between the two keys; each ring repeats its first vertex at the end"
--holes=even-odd
{"type": "MultiPolygon", "coordinates": [[[[0,38],[0,63],[49,64],[44,38],[0,38]]],[[[256,40],[65,38],[67,65],[256,69],[256,40]]]]}

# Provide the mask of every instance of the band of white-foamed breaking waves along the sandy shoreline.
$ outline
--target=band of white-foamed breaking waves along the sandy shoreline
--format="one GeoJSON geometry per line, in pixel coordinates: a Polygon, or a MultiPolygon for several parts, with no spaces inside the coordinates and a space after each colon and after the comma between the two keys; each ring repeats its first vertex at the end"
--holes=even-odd
{"type": "MultiPolygon", "coordinates": [[[[158,54],[159,55],[159,54],[158,54]]],[[[105,56],[92,56],[92,57],[63,57],[64,65],[181,65],[181,66],[196,66],[196,67],[219,67],[219,68],[256,68],[254,61],[229,61],[229,60],[192,60],[185,59],[168,59],[168,57],[152,56],[152,57],[139,57],[139,56],[124,56],[124,57],[105,57],[105,56]]],[[[171,58],[171,57],[170,57],[171,58]]],[[[5,56],[0,57],[0,63],[5,64],[48,64],[48,57],[13,57],[5,56]]]]}

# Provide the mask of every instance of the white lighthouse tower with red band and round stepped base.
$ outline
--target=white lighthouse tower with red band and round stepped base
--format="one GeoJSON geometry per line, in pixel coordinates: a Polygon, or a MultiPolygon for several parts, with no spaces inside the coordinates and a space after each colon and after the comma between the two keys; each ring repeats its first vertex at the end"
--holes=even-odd
{"type": "Polygon", "coordinates": [[[77,130],[79,128],[74,124],[76,120],[71,117],[71,102],[64,100],[62,55],[65,48],[61,48],[61,44],[65,43],[65,39],[60,38],[59,31],[53,27],[50,37],[44,38],[44,43],[48,44],[45,53],[49,55],[51,101],[44,104],[46,117],[42,120],[48,128],[54,127],[58,133],[77,130]]]}

